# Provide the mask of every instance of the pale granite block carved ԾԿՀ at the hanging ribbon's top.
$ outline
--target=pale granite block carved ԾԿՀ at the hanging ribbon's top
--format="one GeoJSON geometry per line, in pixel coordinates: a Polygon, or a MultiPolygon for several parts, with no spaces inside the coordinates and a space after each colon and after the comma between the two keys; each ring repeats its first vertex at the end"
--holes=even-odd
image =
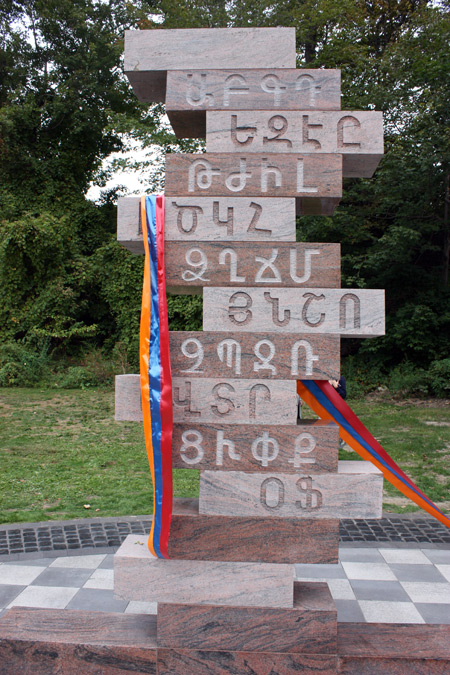
{"type": "MultiPolygon", "coordinates": [[[[132,253],[144,253],[140,198],[121,197],[117,239],[132,253]]],[[[172,197],[165,200],[168,241],[295,242],[295,200],[262,197],[172,197]]]]}

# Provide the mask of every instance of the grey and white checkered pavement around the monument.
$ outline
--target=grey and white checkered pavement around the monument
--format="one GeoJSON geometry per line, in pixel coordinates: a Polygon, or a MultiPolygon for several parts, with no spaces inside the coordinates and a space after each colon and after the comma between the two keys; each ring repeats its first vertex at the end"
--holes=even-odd
{"type": "MultiPolygon", "coordinates": [[[[114,597],[113,554],[0,563],[0,614],[14,606],[156,613],[114,597]]],[[[339,621],[450,624],[450,549],[341,546],[337,565],[295,565],[298,580],[327,581],[339,621]]]]}

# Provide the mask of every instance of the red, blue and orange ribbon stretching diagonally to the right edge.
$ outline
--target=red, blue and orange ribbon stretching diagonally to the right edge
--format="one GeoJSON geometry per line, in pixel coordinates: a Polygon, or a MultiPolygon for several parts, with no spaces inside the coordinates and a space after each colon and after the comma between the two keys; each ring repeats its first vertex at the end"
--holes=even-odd
{"type": "Polygon", "coordinates": [[[375,464],[405,497],[450,527],[450,519],[400,469],[329,382],[298,380],[297,392],[321,419],[338,424],[339,436],[363,459],[375,464]]]}

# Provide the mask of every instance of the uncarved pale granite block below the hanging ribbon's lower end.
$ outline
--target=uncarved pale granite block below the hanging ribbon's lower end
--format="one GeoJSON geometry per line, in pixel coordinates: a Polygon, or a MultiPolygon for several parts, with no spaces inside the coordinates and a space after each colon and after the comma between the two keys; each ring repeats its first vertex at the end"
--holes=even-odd
{"type": "Polygon", "coordinates": [[[292,607],[293,567],[154,558],[146,537],[129,535],[114,556],[114,590],[142,602],[292,607]]]}

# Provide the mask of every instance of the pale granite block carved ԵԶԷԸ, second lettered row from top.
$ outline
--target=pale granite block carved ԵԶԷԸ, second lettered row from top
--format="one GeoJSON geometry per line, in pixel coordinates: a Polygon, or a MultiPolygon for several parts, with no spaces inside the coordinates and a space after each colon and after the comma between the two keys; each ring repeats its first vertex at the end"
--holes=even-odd
{"type": "Polygon", "coordinates": [[[206,149],[340,153],[344,176],[370,177],[383,156],[383,114],[375,110],[209,111],[206,149]]]}

